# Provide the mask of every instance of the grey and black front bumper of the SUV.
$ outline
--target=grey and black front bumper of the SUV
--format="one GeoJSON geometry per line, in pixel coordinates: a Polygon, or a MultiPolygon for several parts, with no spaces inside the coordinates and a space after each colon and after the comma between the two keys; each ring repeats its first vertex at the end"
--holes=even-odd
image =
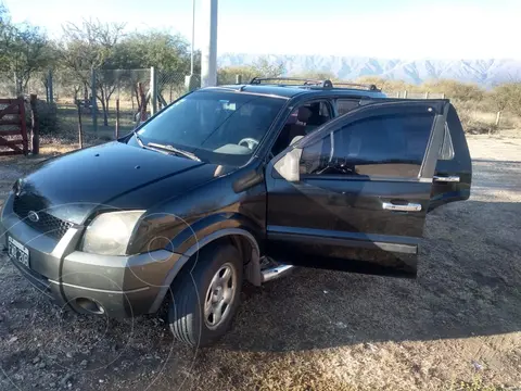
{"type": "Polygon", "coordinates": [[[12,202],[10,195],[2,209],[0,243],[7,245],[11,236],[29,250],[29,267],[13,264],[58,305],[89,313],[85,303],[94,302],[102,310],[98,313],[110,317],[150,314],[161,306],[182,255],[166,250],[129,256],[77,251],[82,227],[72,227],[55,240],[20,219],[12,202]]]}

